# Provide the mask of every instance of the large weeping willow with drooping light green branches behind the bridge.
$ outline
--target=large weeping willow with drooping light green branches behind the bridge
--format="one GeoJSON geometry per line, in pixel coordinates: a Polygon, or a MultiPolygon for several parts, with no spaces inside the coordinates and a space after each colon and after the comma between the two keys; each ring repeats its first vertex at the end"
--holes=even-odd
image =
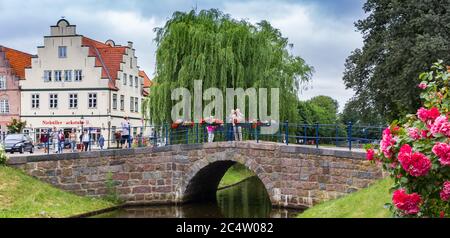
{"type": "Polygon", "coordinates": [[[292,45],[269,22],[253,25],[216,9],[192,10],[175,12],[155,32],[155,84],[143,104],[147,120],[170,122],[177,103],[171,100],[172,90],[184,87],[193,92],[194,80],[202,80],[203,89],[216,87],[222,92],[279,88],[280,119],[298,121],[298,93],[313,68],[289,53],[292,45]]]}

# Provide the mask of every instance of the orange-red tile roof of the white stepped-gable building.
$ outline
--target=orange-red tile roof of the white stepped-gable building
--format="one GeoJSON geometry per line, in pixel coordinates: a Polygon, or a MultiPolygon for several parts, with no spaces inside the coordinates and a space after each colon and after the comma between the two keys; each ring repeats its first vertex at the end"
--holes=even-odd
{"type": "Polygon", "coordinates": [[[89,47],[89,56],[95,57],[95,66],[102,68],[102,78],[110,79],[109,88],[118,90],[115,81],[127,47],[111,46],[87,37],[83,37],[82,45],[89,47]]]}

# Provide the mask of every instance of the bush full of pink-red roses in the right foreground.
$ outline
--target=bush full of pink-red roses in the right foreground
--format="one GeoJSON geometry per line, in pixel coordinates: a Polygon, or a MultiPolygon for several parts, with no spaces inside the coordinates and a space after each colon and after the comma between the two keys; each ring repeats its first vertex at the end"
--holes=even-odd
{"type": "Polygon", "coordinates": [[[396,217],[450,217],[449,79],[442,61],[433,64],[420,75],[423,106],[386,128],[378,150],[366,147],[394,179],[386,206],[396,217]]]}

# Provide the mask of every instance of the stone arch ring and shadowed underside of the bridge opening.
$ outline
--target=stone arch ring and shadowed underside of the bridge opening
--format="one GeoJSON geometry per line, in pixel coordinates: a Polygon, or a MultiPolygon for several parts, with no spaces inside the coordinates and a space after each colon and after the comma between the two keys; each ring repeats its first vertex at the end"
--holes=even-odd
{"type": "Polygon", "coordinates": [[[215,201],[216,192],[225,173],[236,163],[244,165],[259,178],[272,203],[273,184],[255,158],[236,153],[235,150],[216,152],[197,160],[187,171],[177,194],[183,202],[215,201]]]}

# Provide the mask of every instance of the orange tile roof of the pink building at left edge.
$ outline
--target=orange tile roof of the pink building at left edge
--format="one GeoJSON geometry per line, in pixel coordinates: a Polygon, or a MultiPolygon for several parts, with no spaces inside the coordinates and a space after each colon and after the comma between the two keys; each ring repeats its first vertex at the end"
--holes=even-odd
{"type": "Polygon", "coordinates": [[[0,51],[5,53],[5,57],[8,60],[11,69],[14,71],[14,74],[19,79],[25,79],[25,69],[31,67],[32,55],[4,46],[0,46],[0,51]]]}

